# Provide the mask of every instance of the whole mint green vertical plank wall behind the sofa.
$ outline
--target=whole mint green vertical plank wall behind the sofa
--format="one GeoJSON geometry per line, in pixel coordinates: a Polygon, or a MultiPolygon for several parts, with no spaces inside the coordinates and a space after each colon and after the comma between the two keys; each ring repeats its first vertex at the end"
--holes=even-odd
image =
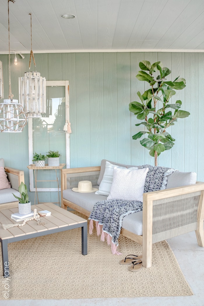
{"type": "MultiPolygon", "coordinates": [[[[139,61],[161,60],[172,70],[172,80],[180,75],[186,79],[186,88],[176,91],[173,101],[180,99],[182,108],[191,115],[169,130],[176,139],[174,147],[161,153],[159,165],[181,171],[197,172],[204,180],[203,79],[204,53],[117,52],[117,53],[62,53],[35,54],[37,71],[46,80],[69,80],[70,85],[70,165],[71,167],[99,165],[106,158],[120,163],[140,165],[154,159],[139,140],[132,136],[143,126],[136,127],[136,116],[128,104],[137,100],[137,91],[143,92],[148,84],[135,76],[139,61]]],[[[4,98],[8,96],[8,55],[0,55],[3,62],[4,98]]],[[[18,58],[14,67],[11,59],[12,91],[18,98],[18,77],[28,71],[29,54],[18,58]]],[[[19,134],[0,133],[0,157],[6,165],[24,170],[28,184],[28,127],[19,134]]],[[[46,142],[39,146],[45,150],[46,142]]],[[[64,144],[62,144],[64,146],[64,144]]],[[[65,162],[65,160],[61,160],[65,162]]],[[[33,197],[33,193],[32,193],[33,197]]],[[[56,198],[55,192],[42,192],[43,200],[56,198]]]]}

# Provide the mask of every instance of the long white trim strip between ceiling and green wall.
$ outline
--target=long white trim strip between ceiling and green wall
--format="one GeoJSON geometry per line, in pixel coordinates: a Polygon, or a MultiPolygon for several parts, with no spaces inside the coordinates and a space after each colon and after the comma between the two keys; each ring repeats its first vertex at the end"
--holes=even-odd
{"type": "MultiPolygon", "coordinates": [[[[16,51],[17,53],[30,54],[30,51],[16,51]]],[[[106,53],[106,52],[195,52],[200,53],[204,52],[203,50],[195,50],[195,49],[113,49],[113,50],[39,50],[34,53],[106,53]]],[[[0,52],[0,54],[9,54],[9,52],[0,52]]]]}

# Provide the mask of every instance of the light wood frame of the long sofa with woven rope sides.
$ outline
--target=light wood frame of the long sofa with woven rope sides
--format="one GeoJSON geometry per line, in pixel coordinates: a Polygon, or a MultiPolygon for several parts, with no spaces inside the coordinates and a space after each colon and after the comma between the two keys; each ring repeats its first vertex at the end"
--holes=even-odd
{"type": "MultiPolygon", "coordinates": [[[[61,169],[61,207],[70,207],[87,217],[90,212],[63,198],[63,190],[78,187],[78,182],[89,180],[97,185],[100,166],[61,169]],[[93,174],[98,174],[97,177],[93,174]]],[[[152,244],[195,230],[198,245],[204,247],[204,183],[170,188],[143,194],[143,235],[126,229],[121,234],[142,244],[143,266],[152,265],[152,244]]]]}

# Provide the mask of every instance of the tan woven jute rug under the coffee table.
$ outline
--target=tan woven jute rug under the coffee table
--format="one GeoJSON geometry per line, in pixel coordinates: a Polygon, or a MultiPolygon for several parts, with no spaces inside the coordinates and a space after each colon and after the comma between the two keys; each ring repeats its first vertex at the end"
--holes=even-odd
{"type": "MultiPolygon", "coordinates": [[[[88,234],[86,256],[81,254],[81,229],[13,242],[8,249],[9,299],[193,294],[166,241],[153,245],[152,267],[138,272],[130,272],[129,266],[121,266],[119,261],[128,254],[142,254],[140,244],[121,235],[118,250],[123,255],[112,255],[110,246],[100,241],[95,230],[88,234]]],[[[2,266],[0,273],[3,275],[2,266]]],[[[3,294],[1,299],[5,299],[3,294]]]]}

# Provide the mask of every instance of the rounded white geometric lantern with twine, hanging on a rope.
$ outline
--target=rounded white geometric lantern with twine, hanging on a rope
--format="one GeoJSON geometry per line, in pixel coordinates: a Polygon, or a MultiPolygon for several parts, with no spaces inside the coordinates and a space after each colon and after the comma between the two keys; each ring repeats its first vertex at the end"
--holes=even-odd
{"type": "MultiPolygon", "coordinates": [[[[8,21],[9,21],[9,2],[8,0],[8,21]]],[[[25,114],[23,106],[18,100],[13,100],[11,91],[11,65],[10,65],[10,39],[9,39],[9,99],[0,103],[0,131],[1,132],[22,132],[27,124],[28,118],[25,114]]]]}

